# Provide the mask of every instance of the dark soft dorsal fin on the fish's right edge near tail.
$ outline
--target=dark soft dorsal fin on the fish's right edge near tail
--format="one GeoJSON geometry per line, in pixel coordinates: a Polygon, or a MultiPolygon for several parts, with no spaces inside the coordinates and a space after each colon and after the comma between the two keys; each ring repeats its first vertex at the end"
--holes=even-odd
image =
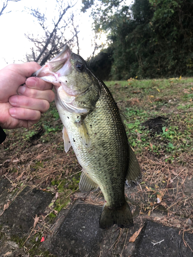
{"type": "Polygon", "coordinates": [[[126,173],[126,185],[128,188],[134,188],[142,181],[142,173],[137,158],[129,145],[129,168],[126,173]]]}

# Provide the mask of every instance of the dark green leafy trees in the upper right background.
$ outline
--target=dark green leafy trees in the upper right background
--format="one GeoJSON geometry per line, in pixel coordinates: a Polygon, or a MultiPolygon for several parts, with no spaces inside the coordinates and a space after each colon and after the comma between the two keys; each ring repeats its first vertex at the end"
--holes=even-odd
{"type": "MultiPolygon", "coordinates": [[[[111,62],[107,70],[101,69],[106,77],[193,75],[192,0],[135,0],[131,6],[127,1],[82,2],[82,11],[93,8],[95,30],[108,33],[110,49],[106,52],[112,52],[111,62]]],[[[97,62],[105,58],[100,54],[90,64],[98,75],[97,62]]]]}

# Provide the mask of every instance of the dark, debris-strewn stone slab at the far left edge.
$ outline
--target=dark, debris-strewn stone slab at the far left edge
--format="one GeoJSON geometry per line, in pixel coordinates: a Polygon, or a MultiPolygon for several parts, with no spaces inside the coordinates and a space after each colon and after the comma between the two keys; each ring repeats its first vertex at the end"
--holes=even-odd
{"type": "Polygon", "coordinates": [[[26,187],[2,214],[0,224],[9,227],[11,234],[24,236],[33,226],[33,218],[44,213],[53,197],[49,192],[26,187]]]}

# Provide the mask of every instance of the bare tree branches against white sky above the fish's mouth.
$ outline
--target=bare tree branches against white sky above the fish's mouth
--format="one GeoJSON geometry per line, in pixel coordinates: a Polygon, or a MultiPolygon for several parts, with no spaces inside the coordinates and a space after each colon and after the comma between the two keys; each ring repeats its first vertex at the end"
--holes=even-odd
{"type": "Polygon", "coordinates": [[[74,45],[75,39],[79,52],[78,26],[74,25],[74,15],[69,16],[68,11],[74,5],[67,4],[67,7],[64,8],[63,3],[62,0],[57,0],[58,16],[51,19],[52,25],[54,25],[51,31],[49,30],[50,26],[46,25],[46,14],[41,14],[39,9],[29,9],[30,14],[38,20],[44,35],[41,37],[38,35],[36,39],[33,34],[25,34],[26,38],[34,44],[34,48],[31,48],[31,53],[26,56],[27,61],[31,60],[44,65],[50,58],[58,54],[64,45],[74,45]],[[73,27],[74,30],[69,30],[69,27],[73,27]],[[64,33],[68,36],[68,39],[64,38],[64,33]]]}

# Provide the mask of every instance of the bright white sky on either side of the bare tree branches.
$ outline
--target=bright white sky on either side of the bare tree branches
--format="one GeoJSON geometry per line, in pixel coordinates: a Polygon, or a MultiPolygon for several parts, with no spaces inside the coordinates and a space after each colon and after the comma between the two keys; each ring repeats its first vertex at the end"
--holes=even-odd
{"type": "MultiPolygon", "coordinates": [[[[2,9],[3,1],[0,0],[0,10],[2,9]]],[[[80,55],[86,59],[91,56],[94,50],[92,43],[95,34],[92,31],[92,18],[89,17],[91,10],[81,13],[81,2],[81,0],[77,0],[76,7],[74,7],[74,15],[75,25],[79,24],[80,55]]],[[[8,3],[4,14],[0,16],[0,69],[11,63],[25,62],[25,54],[27,52],[30,53],[30,48],[33,46],[26,38],[25,33],[38,34],[41,31],[40,25],[28,13],[26,7],[39,8],[42,12],[46,9],[50,17],[51,26],[55,3],[52,0],[22,0],[8,3]]],[[[105,41],[106,36],[103,35],[101,40],[105,41]]],[[[76,52],[77,47],[72,50],[76,52]]]]}

